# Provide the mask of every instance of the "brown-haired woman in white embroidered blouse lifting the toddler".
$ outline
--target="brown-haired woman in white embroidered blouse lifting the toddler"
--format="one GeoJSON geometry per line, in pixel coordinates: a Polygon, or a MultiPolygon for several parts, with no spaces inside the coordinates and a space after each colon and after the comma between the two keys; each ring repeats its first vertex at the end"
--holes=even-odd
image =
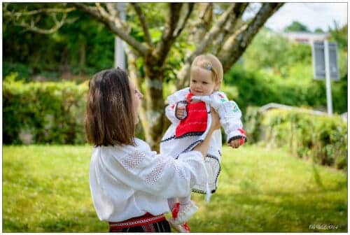
{"type": "Polygon", "coordinates": [[[184,197],[207,180],[204,156],[211,134],[220,127],[213,111],[207,138],[178,159],[158,155],[134,137],[142,94],[122,69],[104,70],[92,78],[85,130],[94,144],[90,190],[100,220],[110,232],[170,232],[164,213],[167,199],[184,197]]]}

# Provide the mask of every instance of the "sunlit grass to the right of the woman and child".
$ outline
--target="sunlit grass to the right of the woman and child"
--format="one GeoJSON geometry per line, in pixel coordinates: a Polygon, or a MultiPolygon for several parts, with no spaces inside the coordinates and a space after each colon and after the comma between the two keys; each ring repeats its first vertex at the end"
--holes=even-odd
{"type": "Polygon", "coordinates": [[[194,195],[200,211],[190,227],[196,232],[316,231],[309,229],[312,225],[347,230],[345,173],[283,150],[224,148],[219,187],[211,202],[194,195]]]}

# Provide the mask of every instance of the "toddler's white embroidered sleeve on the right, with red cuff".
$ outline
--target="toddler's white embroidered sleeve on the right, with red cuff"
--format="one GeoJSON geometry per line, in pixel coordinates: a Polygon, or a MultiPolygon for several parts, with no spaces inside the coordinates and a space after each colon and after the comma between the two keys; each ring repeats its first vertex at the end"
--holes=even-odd
{"type": "Polygon", "coordinates": [[[218,115],[220,116],[221,126],[228,135],[228,142],[235,138],[244,138],[246,140],[246,134],[241,122],[241,110],[236,102],[229,101],[224,92],[216,92],[214,99],[216,99],[216,103],[220,104],[218,115]]]}

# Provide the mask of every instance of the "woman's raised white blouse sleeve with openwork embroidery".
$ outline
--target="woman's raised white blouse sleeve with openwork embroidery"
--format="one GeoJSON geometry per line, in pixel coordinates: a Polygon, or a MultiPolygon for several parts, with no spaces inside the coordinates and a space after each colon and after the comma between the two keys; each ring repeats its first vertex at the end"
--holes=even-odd
{"type": "Polygon", "coordinates": [[[113,162],[124,169],[114,171],[123,183],[165,198],[185,197],[199,180],[203,180],[200,178],[205,179],[204,160],[197,151],[186,152],[174,159],[151,150],[135,149],[113,162]]]}

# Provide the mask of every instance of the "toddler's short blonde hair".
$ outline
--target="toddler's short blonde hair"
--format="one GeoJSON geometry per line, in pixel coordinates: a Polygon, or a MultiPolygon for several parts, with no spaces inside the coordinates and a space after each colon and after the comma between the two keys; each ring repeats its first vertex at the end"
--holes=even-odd
{"type": "Polygon", "coordinates": [[[193,59],[191,64],[191,73],[195,67],[200,67],[211,71],[214,83],[219,83],[223,81],[223,65],[220,60],[215,55],[205,54],[198,55],[193,59]]]}

